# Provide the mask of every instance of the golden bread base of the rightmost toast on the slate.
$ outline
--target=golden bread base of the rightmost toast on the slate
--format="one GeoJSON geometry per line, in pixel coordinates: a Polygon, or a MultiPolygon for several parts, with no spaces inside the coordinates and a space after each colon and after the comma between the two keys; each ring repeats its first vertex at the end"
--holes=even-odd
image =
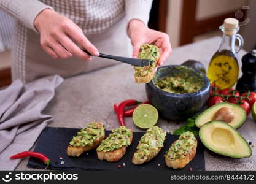
{"type": "MultiPolygon", "coordinates": [[[[174,144],[177,140],[174,142],[174,144]]],[[[167,155],[165,155],[165,163],[167,167],[172,167],[173,169],[182,169],[185,167],[196,155],[197,148],[197,140],[194,140],[195,144],[190,151],[188,151],[187,155],[184,155],[184,158],[177,159],[169,159],[167,155]]]]}

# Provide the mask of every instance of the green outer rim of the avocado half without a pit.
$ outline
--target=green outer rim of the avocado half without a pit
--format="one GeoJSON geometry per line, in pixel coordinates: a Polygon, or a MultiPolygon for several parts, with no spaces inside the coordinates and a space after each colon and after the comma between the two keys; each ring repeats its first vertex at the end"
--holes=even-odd
{"type": "Polygon", "coordinates": [[[200,140],[203,143],[203,145],[214,153],[218,153],[218,154],[224,155],[224,156],[229,156],[231,158],[247,158],[247,157],[252,156],[252,149],[250,148],[250,145],[247,143],[246,139],[244,139],[244,137],[242,137],[241,134],[239,134],[239,132],[236,131],[235,128],[233,128],[232,126],[228,125],[227,123],[225,123],[223,121],[210,121],[210,122],[204,124],[203,126],[201,126],[201,128],[199,130],[199,137],[200,137],[200,140]],[[211,124],[214,124],[214,125],[222,124],[222,125],[227,126],[227,129],[231,129],[232,131],[234,131],[235,134],[233,134],[233,136],[238,136],[239,139],[242,139],[244,144],[246,144],[247,147],[249,148],[249,154],[247,156],[231,155],[228,153],[223,153],[222,151],[219,151],[219,150],[215,150],[215,148],[212,148],[211,145],[209,145],[208,142],[206,142],[206,140],[204,139],[204,132],[203,132],[204,128],[207,128],[207,126],[211,125],[211,124]]]}

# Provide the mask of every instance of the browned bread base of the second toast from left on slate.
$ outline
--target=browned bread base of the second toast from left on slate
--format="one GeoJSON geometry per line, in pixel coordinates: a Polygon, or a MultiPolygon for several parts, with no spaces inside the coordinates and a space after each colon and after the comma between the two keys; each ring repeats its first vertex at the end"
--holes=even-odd
{"type": "MultiPolygon", "coordinates": [[[[130,140],[130,143],[133,141],[133,131],[130,130],[130,137],[129,137],[129,140],[130,140]]],[[[97,151],[97,155],[98,155],[98,158],[99,160],[106,160],[106,161],[109,161],[109,162],[117,162],[119,161],[123,155],[125,155],[126,153],[126,147],[127,146],[123,146],[121,148],[118,148],[118,149],[115,149],[114,151],[97,151]]]]}

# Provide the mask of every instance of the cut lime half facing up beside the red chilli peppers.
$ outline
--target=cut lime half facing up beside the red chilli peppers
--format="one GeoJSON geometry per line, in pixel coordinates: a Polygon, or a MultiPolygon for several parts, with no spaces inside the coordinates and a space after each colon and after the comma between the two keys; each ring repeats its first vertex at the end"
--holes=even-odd
{"type": "Polygon", "coordinates": [[[150,128],[157,124],[158,112],[149,104],[139,105],[133,112],[133,122],[139,128],[150,128]]]}

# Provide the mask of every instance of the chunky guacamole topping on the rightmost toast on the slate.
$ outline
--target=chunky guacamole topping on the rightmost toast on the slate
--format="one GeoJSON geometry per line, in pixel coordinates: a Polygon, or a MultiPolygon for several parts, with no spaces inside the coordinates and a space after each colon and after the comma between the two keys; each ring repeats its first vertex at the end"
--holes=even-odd
{"type": "Polygon", "coordinates": [[[166,152],[165,156],[168,159],[183,159],[185,155],[188,155],[193,147],[195,147],[196,138],[194,134],[190,131],[184,132],[179,136],[179,139],[176,140],[169,150],[166,152]]]}

